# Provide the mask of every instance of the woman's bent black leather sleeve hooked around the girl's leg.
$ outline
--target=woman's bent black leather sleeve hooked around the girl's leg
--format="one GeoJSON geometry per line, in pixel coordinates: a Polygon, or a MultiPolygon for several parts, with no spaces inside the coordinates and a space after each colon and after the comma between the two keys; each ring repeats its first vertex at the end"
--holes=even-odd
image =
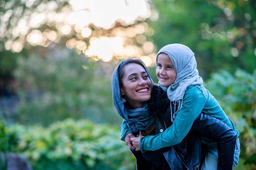
{"type": "Polygon", "coordinates": [[[219,119],[200,113],[191,130],[204,138],[217,142],[218,170],[232,170],[236,145],[236,132],[219,119]]]}

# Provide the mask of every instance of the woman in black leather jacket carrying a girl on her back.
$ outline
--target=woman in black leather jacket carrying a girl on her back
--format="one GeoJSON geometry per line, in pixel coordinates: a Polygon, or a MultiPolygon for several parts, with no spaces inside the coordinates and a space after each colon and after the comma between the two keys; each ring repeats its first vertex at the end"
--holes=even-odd
{"type": "MultiPolygon", "coordinates": [[[[113,101],[116,110],[125,120],[122,139],[124,136],[129,139],[132,132],[143,130],[146,130],[146,135],[148,133],[151,133],[150,135],[158,134],[171,125],[170,121],[166,121],[168,117],[162,114],[163,110],[158,110],[159,108],[166,109],[166,102],[160,101],[159,104],[153,106],[149,102],[150,107],[148,106],[147,101],[149,101],[153,89],[156,89],[157,94],[159,89],[153,88],[148,70],[141,60],[124,60],[115,69],[112,77],[113,101]]],[[[160,93],[162,92],[160,91],[160,93]]],[[[231,164],[232,169],[233,159],[224,161],[223,157],[229,158],[234,154],[236,133],[218,119],[205,114],[199,115],[192,126],[192,131],[180,144],[144,153],[132,150],[137,159],[137,169],[152,167],[155,169],[199,169],[204,156],[204,152],[201,152],[200,138],[202,136],[217,141],[220,151],[218,168],[230,169],[231,164]],[[209,131],[202,131],[202,129],[209,129],[209,131]],[[149,163],[145,164],[147,161],[149,163]],[[144,165],[140,166],[141,164],[150,167],[144,168],[144,165]]],[[[202,151],[204,150],[202,149],[202,151]]]]}

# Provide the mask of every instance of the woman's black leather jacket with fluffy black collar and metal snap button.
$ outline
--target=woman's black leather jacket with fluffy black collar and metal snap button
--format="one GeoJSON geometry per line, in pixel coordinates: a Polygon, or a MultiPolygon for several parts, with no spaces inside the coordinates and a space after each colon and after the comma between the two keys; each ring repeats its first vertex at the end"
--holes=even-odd
{"type": "MultiPolygon", "coordinates": [[[[156,115],[156,134],[162,133],[172,124],[169,111],[170,101],[167,98],[166,92],[155,85],[151,92],[148,107],[149,110],[156,115]]],[[[218,170],[232,170],[236,132],[220,120],[204,113],[200,113],[194,121],[188,135],[179,144],[160,149],[170,168],[172,170],[200,169],[207,152],[204,147],[202,147],[202,137],[217,142],[219,159],[218,170]]],[[[137,159],[138,170],[154,169],[153,167],[147,167],[150,166],[149,164],[147,166],[145,166],[145,164],[142,165],[143,161],[141,159],[143,158],[139,158],[140,155],[138,155],[138,153],[136,154],[134,155],[137,159]]]]}

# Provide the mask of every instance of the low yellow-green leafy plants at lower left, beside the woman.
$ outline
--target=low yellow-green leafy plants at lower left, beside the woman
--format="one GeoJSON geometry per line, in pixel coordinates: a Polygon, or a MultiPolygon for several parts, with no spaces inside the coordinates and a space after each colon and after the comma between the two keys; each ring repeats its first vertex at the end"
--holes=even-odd
{"type": "Polygon", "coordinates": [[[135,168],[134,156],[116,127],[69,118],[47,128],[14,124],[6,130],[13,151],[37,170],[135,168]]]}

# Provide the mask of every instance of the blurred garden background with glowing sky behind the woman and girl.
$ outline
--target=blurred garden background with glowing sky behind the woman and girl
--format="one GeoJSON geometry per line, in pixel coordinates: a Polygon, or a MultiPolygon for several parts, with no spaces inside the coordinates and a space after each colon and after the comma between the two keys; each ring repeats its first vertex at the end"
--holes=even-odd
{"type": "Polygon", "coordinates": [[[256,1],[0,0],[0,148],[34,169],[135,169],[111,78],[138,56],[188,46],[256,169],[256,1]]]}

